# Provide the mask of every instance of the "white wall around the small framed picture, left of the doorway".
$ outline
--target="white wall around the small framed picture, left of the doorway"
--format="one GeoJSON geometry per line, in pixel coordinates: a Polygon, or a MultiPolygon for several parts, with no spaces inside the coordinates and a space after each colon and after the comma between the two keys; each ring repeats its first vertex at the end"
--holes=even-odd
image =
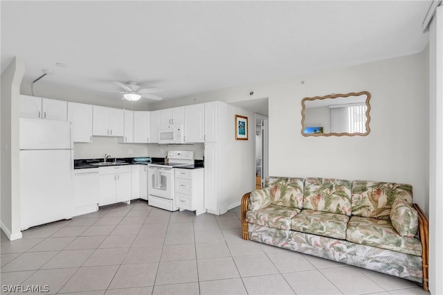
{"type": "Polygon", "coordinates": [[[244,193],[255,189],[255,116],[251,111],[228,105],[228,210],[240,205],[244,193]],[[235,140],[235,115],[248,117],[248,140],[235,140]]]}

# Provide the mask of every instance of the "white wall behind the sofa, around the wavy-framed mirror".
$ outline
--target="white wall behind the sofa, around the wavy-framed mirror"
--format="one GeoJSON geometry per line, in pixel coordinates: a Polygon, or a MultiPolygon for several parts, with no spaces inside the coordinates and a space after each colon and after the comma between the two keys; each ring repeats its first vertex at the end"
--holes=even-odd
{"type": "Polygon", "coordinates": [[[426,64],[425,51],[158,102],[154,108],[210,100],[246,101],[251,100],[248,92],[253,89],[255,98],[269,98],[269,175],[412,184],[415,202],[428,213],[426,64]],[[302,98],[359,91],[372,96],[368,136],[302,136],[302,98]]]}

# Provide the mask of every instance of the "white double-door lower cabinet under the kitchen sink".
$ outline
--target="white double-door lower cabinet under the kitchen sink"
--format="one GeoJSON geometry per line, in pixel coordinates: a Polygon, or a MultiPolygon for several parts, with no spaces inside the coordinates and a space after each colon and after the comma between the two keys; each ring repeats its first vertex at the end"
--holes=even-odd
{"type": "Polygon", "coordinates": [[[100,167],[100,201],[99,206],[118,202],[129,202],[132,198],[132,167],[100,167]]]}

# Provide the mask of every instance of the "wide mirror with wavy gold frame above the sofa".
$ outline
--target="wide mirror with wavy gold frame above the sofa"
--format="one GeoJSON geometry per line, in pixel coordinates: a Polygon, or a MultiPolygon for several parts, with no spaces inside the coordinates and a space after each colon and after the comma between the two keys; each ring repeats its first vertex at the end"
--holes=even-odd
{"type": "Polygon", "coordinates": [[[370,98],[368,91],[303,98],[302,135],[368,135],[370,98]]]}

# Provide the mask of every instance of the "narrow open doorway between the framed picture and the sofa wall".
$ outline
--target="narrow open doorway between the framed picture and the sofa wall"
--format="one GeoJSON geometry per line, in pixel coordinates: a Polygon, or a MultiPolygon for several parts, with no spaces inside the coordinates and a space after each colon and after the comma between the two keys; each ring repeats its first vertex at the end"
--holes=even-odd
{"type": "Polygon", "coordinates": [[[268,177],[268,117],[255,114],[255,189],[268,177]]]}

